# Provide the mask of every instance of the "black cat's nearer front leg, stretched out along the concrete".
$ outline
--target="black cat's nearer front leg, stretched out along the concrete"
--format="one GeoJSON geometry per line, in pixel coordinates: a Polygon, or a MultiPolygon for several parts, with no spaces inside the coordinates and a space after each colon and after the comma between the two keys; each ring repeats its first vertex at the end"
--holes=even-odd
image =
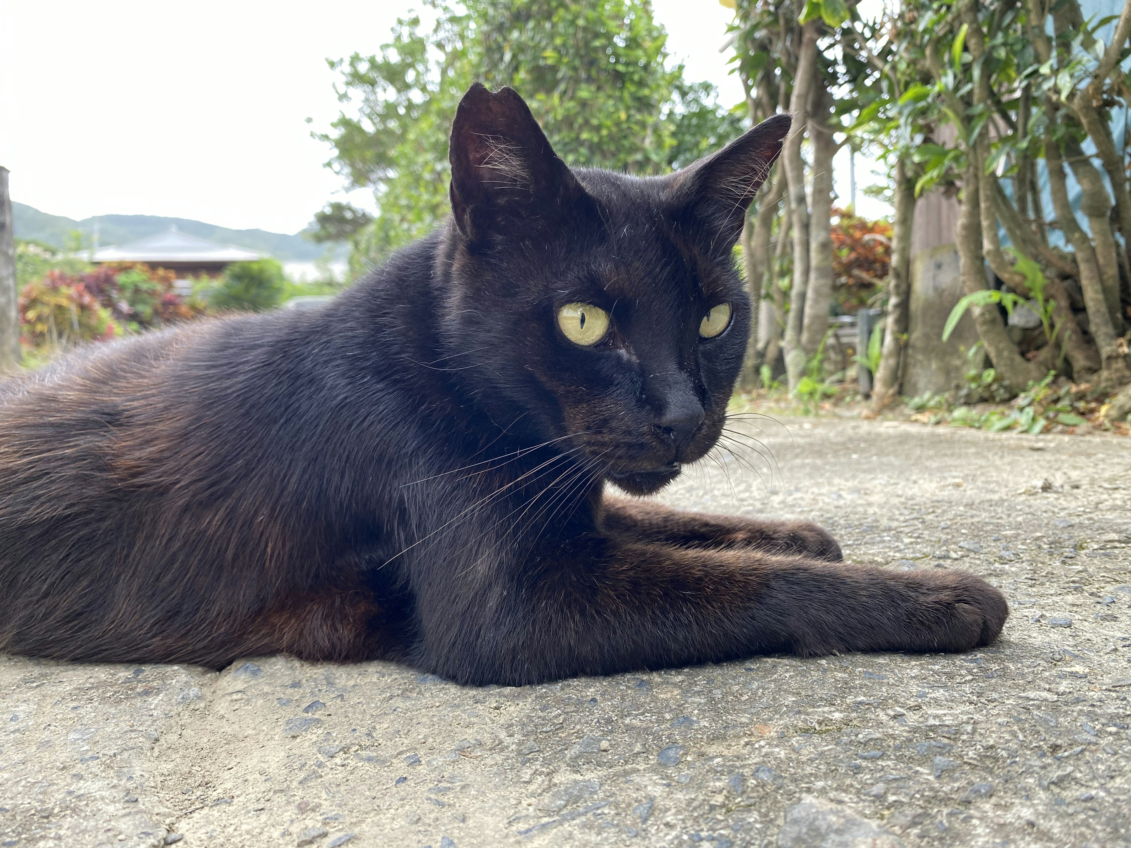
{"type": "Polygon", "coordinates": [[[961,651],[1009,614],[959,571],[897,572],[587,535],[417,595],[417,665],[518,685],[787,651],[961,651]],[[454,597],[456,600],[454,600],[454,597]]]}

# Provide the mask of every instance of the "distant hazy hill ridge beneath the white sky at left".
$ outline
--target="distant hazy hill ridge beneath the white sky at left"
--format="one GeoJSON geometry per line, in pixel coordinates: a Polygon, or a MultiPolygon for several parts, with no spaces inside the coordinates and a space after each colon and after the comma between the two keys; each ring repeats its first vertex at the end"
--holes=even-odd
{"type": "Polygon", "coordinates": [[[189,218],[164,218],[157,215],[97,215],[75,220],[61,215],[48,215],[34,207],[17,202],[12,202],[11,211],[17,239],[43,242],[55,248],[64,246],[68,235],[76,230],[89,241],[94,233],[94,223],[98,222],[98,245],[103,248],[110,244],[129,244],[147,235],[164,233],[175,226],[181,232],[199,239],[259,250],[284,262],[313,261],[330,250],[334,251],[335,259],[344,259],[348,252],[345,245],[316,244],[304,239],[301,233],[284,235],[268,233],[266,230],[227,230],[189,218]]]}

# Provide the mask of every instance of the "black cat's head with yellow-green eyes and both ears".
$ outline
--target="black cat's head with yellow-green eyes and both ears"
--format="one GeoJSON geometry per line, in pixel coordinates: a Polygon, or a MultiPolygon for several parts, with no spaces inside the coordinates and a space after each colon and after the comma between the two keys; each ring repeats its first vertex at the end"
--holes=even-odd
{"type": "Polygon", "coordinates": [[[516,92],[473,86],[438,269],[452,373],[500,426],[625,491],[674,479],[723,429],[750,322],[732,249],[789,124],[634,178],[570,170],[516,92]]]}

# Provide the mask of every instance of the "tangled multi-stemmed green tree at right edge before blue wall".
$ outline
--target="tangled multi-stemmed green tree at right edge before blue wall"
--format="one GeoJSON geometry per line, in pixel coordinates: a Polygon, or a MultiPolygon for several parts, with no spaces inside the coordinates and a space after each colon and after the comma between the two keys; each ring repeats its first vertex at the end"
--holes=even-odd
{"type": "MultiPolygon", "coordinates": [[[[898,37],[878,67],[904,85],[874,103],[875,123],[887,121],[886,144],[915,194],[960,188],[964,305],[1015,391],[1050,370],[1105,389],[1131,381],[1120,338],[1131,317],[1131,188],[1112,131],[1131,101],[1121,67],[1131,0],[1108,18],[1086,16],[1088,6],[916,0],[891,9],[883,27],[898,37]],[[986,266],[1002,291],[988,287],[986,266]],[[998,305],[1015,297],[1045,328],[1044,346],[1024,356],[998,305]]],[[[866,46],[875,34],[862,33],[858,49],[879,53],[866,46]]]]}

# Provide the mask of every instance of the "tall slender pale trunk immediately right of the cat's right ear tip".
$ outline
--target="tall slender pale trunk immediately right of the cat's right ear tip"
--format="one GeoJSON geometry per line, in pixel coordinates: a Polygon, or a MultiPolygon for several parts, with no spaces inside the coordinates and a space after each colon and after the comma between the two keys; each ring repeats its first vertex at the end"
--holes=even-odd
{"type": "Polygon", "coordinates": [[[805,161],[801,157],[801,140],[806,126],[809,92],[817,78],[817,21],[802,28],[797,72],[789,97],[793,129],[782,150],[782,164],[789,187],[793,208],[793,288],[789,292],[789,317],[785,330],[785,367],[789,390],[796,388],[805,373],[805,351],[801,346],[802,319],[805,314],[805,288],[809,285],[809,205],[805,199],[805,161]]]}

